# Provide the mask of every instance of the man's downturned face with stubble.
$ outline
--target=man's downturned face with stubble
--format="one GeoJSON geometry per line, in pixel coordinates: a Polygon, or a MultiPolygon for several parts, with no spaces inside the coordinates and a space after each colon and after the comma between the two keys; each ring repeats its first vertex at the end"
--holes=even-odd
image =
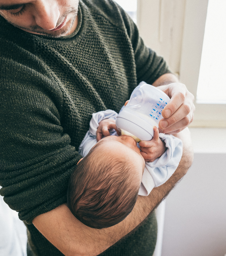
{"type": "Polygon", "coordinates": [[[79,0],[0,0],[0,15],[32,34],[60,37],[78,23],[79,0]]]}

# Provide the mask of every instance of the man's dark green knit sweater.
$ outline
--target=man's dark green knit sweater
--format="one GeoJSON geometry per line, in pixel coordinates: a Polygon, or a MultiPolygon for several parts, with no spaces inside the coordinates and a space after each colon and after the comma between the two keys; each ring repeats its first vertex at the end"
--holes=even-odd
{"type": "MultiPolygon", "coordinates": [[[[76,31],[59,39],[24,32],[0,17],[1,195],[30,224],[37,255],[61,255],[31,223],[66,202],[92,113],[118,112],[140,81],[152,84],[169,72],[113,1],[80,1],[78,15],[76,31]]],[[[106,255],[137,255],[126,253],[106,255]]]]}

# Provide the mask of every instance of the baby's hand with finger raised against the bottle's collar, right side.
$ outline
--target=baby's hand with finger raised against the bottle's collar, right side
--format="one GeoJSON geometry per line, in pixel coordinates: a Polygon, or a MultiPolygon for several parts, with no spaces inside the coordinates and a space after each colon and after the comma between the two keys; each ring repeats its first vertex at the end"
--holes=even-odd
{"type": "Polygon", "coordinates": [[[156,158],[162,156],[166,151],[165,142],[159,138],[158,128],[153,126],[154,137],[150,141],[140,141],[141,155],[146,162],[153,162],[156,158]]]}

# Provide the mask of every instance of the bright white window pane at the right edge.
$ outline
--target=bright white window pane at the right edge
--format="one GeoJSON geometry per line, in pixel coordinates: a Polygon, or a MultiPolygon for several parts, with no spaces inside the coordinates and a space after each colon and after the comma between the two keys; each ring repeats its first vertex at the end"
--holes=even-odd
{"type": "Polygon", "coordinates": [[[226,1],[209,0],[201,64],[197,103],[226,104],[226,1]]]}

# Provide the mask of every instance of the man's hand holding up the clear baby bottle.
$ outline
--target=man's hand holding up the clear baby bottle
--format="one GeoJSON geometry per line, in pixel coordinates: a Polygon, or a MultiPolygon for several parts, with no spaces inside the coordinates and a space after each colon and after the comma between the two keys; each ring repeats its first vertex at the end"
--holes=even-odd
{"type": "Polygon", "coordinates": [[[160,120],[158,124],[159,131],[175,134],[184,130],[194,118],[193,94],[187,90],[184,84],[179,83],[173,74],[160,76],[152,85],[157,86],[170,97],[170,102],[162,111],[164,119],[160,120]]]}

